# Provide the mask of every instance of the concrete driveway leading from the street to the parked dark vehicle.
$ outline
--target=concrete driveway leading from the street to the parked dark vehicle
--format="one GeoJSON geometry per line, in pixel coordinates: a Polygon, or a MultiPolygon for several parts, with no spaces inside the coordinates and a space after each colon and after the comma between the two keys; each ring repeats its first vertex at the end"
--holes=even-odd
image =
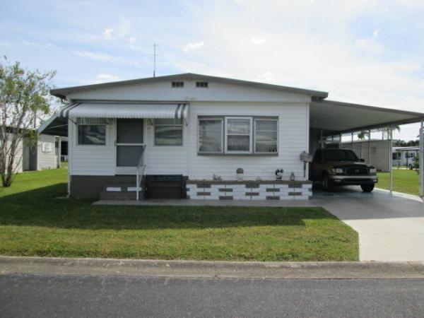
{"type": "Polygon", "coordinates": [[[424,261],[424,203],[418,196],[375,189],[314,189],[312,202],[359,233],[361,261],[424,261]]]}

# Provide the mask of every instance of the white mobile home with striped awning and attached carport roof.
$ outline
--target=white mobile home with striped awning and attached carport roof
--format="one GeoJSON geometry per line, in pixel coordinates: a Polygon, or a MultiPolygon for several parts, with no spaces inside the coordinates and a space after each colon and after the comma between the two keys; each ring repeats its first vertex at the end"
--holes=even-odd
{"type": "MultiPolygon", "coordinates": [[[[52,95],[69,105],[39,132],[68,136],[74,197],[132,199],[139,177],[148,198],[308,199],[311,128],[328,134],[377,124],[364,116],[373,107],[343,103],[338,111],[355,113],[332,114],[326,92],[193,73],[52,95]]],[[[384,124],[420,118],[379,111],[384,124]]]]}

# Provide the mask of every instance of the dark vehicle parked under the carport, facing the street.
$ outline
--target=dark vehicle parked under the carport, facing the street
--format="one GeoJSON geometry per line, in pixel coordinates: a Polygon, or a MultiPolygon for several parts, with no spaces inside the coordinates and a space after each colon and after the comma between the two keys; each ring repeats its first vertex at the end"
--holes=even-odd
{"type": "Polygon", "coordinates": [[[367,165],[350,149],[324,148],[314,154],[310,169],[312,181],[322,182],[325,191],[334,185],[360,185],[363,192],[372,192],[377,183],[377,169],[367,165]]]}

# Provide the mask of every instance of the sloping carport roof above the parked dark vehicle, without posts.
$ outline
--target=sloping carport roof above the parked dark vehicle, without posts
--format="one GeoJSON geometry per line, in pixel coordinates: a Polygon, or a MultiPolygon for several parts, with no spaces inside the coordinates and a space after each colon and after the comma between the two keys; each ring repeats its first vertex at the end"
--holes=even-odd
{"type": "Polygon", "coordinates": [[[411,124],[424,119],[424,113],[359,105],[334,100],[315,100],[310,107],[310,127],[348,133],[384,126],[411,124]]]}

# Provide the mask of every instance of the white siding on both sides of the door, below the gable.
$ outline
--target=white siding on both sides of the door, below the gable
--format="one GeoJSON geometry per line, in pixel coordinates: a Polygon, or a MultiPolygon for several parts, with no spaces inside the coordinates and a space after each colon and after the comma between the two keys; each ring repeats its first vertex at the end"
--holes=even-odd
{"type": "MultiPolygon", "coordinates": [[[[213,174],[223,179],[235,179],[235,170],[242,167],[245,179],[275,179],[276,169],[283,169],[283,179],[294,172],[303,178],[302,151],[308,148],[308,105],[268,102],[191,102],[188,125],[182,125],[183,146],[153,146],[154,124],[144,122],[146,141],[145,163],[148,175],[184,175],[189,179],[212,179],[213,174]],[[274,155],[208,154],[199,153],[199,119],[237,117],[278,118],[278,153],[274,155]]],[[[116,153],[114,121],[107,125],[106,145],[77,146],[76,127],[71,124],[72,175],[115,175],[116,153]]],[[[307,173],[306,173],[307,175],[307,173]]]]}

